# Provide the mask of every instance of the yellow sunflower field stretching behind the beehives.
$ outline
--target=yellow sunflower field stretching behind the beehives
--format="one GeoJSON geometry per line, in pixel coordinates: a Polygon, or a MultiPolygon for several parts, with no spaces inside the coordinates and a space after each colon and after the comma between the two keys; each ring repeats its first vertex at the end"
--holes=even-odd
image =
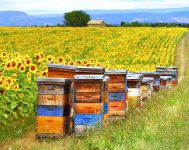
{"type": "Polygon", "coordinates": [[[0,126],[35,114],[36,78],[47,64],[131,72],[174,65],[185,28],[0,28],[0,126]]]}

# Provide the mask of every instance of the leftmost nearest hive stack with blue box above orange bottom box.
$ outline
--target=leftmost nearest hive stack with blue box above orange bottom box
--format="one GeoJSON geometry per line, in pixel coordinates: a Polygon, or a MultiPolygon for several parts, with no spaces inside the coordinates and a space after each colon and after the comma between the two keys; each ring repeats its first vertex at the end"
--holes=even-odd
{"type": "Polygon", "coordinates": [[[37,79],[37,137],[57,137],[69,132],[71,79],[37,79]]]}

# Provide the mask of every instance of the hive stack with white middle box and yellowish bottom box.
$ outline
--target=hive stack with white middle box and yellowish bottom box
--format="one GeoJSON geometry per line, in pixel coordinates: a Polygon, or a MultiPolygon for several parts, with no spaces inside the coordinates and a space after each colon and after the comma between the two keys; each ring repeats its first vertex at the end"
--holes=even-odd
{"type": "Polygon", "coordinates": [[[138,107],[141,107],[142,103],[142,83],[143,75],[141,74],[132,74],[127,75],[127,84],[128,84],[128,100],[127,106],[129,111],[136,110],[138,107]]]}

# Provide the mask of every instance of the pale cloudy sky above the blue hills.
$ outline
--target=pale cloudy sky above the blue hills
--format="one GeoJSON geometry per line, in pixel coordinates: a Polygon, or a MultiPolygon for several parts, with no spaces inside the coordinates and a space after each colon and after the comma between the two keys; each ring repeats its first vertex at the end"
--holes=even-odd
{"type": "Polygon", "coordinates": [[[0,11],[23,11],[29,14],[179,7],[189,7],[189,0],[0,0],[0,11]]]}

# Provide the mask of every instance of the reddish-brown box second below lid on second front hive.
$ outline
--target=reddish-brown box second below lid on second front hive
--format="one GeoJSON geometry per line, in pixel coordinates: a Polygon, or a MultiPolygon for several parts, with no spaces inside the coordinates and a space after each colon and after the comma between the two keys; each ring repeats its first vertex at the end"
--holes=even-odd
{"type": "Polygon", "coordinates": [[[76,103],[101,103],[102,94],[101,92],[76,92],[75,102],[76,103]]]}

